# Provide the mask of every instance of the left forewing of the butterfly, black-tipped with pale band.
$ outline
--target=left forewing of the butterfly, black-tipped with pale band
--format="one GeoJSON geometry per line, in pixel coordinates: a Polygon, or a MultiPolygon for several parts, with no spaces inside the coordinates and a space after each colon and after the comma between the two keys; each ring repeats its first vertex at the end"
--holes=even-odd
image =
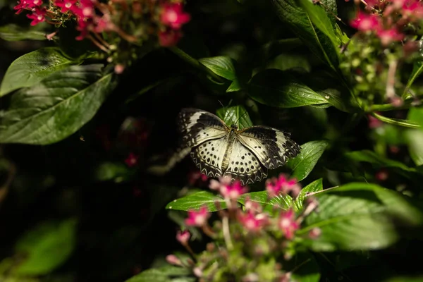
{"type": "Polygon", "coordinates": [[[183,147],[195,147],[207,140],[228,135],[229,128],[214,114],[199,109],[182,109],[178,115],[178,128],[182,133],[183,147]]]}

